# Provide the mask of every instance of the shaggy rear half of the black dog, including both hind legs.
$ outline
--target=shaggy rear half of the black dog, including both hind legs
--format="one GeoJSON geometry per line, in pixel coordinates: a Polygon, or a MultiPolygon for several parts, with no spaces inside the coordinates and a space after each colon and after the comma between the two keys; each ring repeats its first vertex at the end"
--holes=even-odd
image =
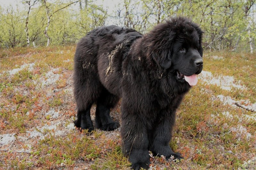
{"type": "Polygon", "coordinates": [[[95,126],[114,130],[118,123],[109,116],[122,96],[122,62],[135,39],[142,37],[130,28],[114,25],[89,32],[76,47],[74,57],[74,97],[77,104],[76,127],[93,130],[90,108],[97,103],[95,126]]]}

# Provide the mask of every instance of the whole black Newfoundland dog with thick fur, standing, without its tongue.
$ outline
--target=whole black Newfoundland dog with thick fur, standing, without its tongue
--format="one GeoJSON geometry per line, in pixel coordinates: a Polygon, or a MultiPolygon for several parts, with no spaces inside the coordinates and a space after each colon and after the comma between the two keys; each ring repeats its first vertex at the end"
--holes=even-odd
{"type": "Polygon", "coordinates": [[[169,142],[176,110],[190,85],[178,73],[202,71],[202,34],[183,17],[156,25],[146,35],[117,26],[89,32],[77,44],[74,58],[75,126],[94,129],[90,109],[96,103],[95,127],[116,129],[119,123],[109,110],[122,97],[122,149],[132,168],[149,167],[148,151],[181,159],[169,142]]]}

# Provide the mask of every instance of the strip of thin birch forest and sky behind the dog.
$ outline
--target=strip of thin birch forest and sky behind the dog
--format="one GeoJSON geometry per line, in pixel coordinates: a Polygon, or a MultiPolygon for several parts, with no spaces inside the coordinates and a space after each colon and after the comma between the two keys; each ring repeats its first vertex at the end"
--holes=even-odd
{"type": "Polygon", "coordinates": [[[187,16],[199,24],[205,32],[205,49],[253,53],[255,48],[255,0],[15,2],[0,4],[0,49],[74,45],[102,25],[132,27],[146,33],[172,16],[187,16]]]}

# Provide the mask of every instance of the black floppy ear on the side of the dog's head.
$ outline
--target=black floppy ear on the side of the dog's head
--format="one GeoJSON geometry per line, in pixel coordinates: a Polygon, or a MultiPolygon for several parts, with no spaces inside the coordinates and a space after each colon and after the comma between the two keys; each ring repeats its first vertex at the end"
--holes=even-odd
{"type": "Polygon", "coordinates": [[[164,49],[152,53],[152,58],[155,60],[158,67],[163,67],[164,69],[170,68],[172,65],[172,56],[170,49],[164,49]]]}

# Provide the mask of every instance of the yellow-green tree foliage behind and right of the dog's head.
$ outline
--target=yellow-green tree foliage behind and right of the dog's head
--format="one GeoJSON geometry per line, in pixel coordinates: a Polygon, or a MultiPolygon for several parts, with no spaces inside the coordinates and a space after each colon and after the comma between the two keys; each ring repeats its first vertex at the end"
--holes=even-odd
{"type": "MultiPolygon", "coordinates": [[[[144,16],[155,21],[153,25],[172,16],[187,16],[204,30],[204,47],[214,50],[243,48],[248,38],[255,39],[254,11],[247,13],[251,1],[143,1],[144,16]],[[251,31],[250,35],[248,30],[251,31]]],[[[253,3],[252,3],[253,4],[253,3]]],[[[254,4],[255,6],[255,4],[254,4]]]]}

